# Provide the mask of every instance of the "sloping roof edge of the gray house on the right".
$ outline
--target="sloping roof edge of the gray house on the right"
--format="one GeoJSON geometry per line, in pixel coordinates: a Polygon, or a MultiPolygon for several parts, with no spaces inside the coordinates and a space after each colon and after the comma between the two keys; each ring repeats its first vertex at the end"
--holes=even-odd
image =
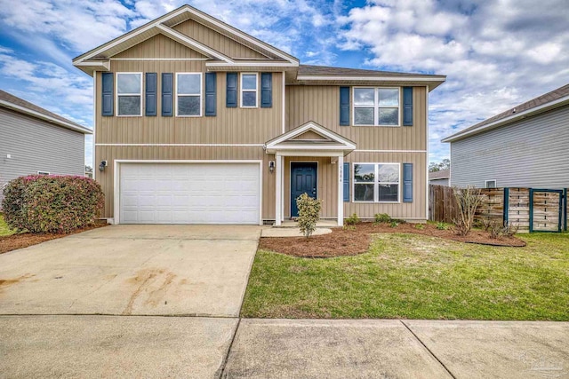
{"type": "Polygon", "coordinates": [[[519,106],[508,109],[506,112],[496,114],[495,116],[490,117],[483,122],[478,122],[469,128],[461,130],[458,133],[455,133],[452,136],[443,139],[443,142],[452,142],[454,140],[466,138],[469,135],[476,134],[475,132],[486,130],[491,126],[501,126],[510,122],[516,122],[523,116],[529,116],[543,111],[543,108],[547,108],[548,104],[551,105],[549,108],[555,107],[557,104],[561,106],[563,103],[559,104],[559,100],[562,100],[564,98],[568,98],[566,100],[567,103],[569,103],[569,84],[565,84],[563,87],[557,88],[557,90],[550,91],[544,95],[538,96],[535,99],[526,101],[519,106]]]}

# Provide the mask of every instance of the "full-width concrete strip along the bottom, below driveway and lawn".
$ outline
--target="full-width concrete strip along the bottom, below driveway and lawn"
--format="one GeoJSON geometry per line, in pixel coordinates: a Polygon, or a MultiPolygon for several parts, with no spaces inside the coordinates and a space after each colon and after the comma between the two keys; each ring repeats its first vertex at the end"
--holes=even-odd
{"type": "Polygon", "coordinates": [[[0,373],[8,378],[567,378],[569,323],[0,316],[0,373]]]}

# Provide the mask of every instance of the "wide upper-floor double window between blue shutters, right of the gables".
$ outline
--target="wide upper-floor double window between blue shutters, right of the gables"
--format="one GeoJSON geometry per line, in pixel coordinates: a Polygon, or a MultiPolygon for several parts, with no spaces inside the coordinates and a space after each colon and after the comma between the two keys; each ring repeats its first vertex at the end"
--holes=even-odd
{"type": "Polygon", "coordinates": [[[354,125],[399,126],[399,88],[355,87],[354,125]]]}

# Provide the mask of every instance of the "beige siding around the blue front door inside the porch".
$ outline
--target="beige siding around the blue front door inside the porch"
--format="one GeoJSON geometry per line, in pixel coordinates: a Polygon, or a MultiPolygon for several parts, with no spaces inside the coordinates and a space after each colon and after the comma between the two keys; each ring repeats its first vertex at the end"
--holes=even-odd
{"type": "Polygon", "coordinates": [[[291,162],[317,162],[317,198],[322,200],[320,217],[338,217],[338,165],[329,157],[284,157],[284,217],[291,217],[291,162]]]}

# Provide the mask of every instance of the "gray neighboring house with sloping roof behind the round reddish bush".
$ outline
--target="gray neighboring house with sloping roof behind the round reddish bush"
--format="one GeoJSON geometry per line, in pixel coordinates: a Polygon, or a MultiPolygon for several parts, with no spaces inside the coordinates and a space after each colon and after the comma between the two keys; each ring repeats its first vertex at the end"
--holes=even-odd
{"type": "Polygon", "coordinates": [[[85,134],[92,131],[0,90],[0,189],[24,175],[83,176],[85,134]]]}

